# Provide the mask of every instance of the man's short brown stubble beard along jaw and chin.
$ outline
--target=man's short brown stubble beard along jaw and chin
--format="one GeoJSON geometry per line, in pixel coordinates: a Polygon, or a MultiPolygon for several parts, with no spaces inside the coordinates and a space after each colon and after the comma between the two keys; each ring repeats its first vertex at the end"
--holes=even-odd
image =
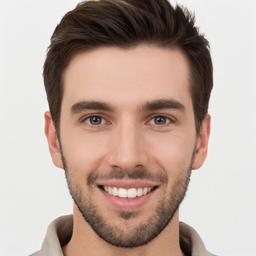
{"type": "MultiPolygon", "coordinates": [[[[166,191],[165,196],[162,196],[155,208],[155,211],[152,212],[146,222],[139,223],[136,226],[134,226],[134,224],[131,225],[129,219],[135,218],[138,212],[119,211],[119,218],[123,219],[123,225],[120,227],[120,225],[111,225],[107,223],[103,215],[100,214],[97,204],[92,199],[93,190],[91,183],[94,182],[97,174],[92,173],[93,178],[90,180],[91,183],[89,181],[91,176],[87,178],[88,194],[85,195],[82,189],[76,184],[75,178],[70,174],[71,172],[68,170],[67,162],[62,150],[61,156],[69,192],[83,219],[104,241],[111,245],[125,248],[138,247],[147,244],[160,234],[160,232],[170,223],[180,203],[185,197],[194,159],[193,153],[189,167],[186,170],[180,170],[180,174],[174,181],[171,190],[169,192],[166,191]]],[[[125,174],[120,171],[117,172],[112,170],[111,173],[116,173],[112,175],[116,178],[125,177],[125,174]]],[[[150,171],[146,169],[136,169],[130,176],[144,179],[145,175],[151,176],[150,171]]],[[[167,184],[167,176],[161,176],[159,178],[164,178],[164,183],[165,185],[167,184]]]]}

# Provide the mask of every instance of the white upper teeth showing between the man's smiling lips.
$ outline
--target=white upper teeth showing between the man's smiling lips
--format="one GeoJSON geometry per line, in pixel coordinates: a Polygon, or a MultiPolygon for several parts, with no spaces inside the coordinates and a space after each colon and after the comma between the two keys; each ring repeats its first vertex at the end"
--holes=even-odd
{"type": "Polygon", "coordinates": [[[138,187],[138,188],[122,188],[122,187],[116,187],[116,186],[106,186],[106,185],[99,185],[99,188],[101,190],[104,190],[106,193],[110,195],[117,196],[119,198],[123,199],[133,199],[145,194],[150,193],[152,190],[154,190],[158,186],[145,186],[145,187],[138,187]]]}

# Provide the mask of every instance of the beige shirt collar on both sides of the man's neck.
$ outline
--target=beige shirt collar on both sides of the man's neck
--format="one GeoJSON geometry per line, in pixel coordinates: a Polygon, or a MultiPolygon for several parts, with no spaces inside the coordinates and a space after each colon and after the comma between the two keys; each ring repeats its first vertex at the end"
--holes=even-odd
{"type": "MultiPolygon", "coordinates": [[[[30,256],[63,256],[61,246],[71,238],[73,215],[54,219],[48,226],[41,249],[30,256]]],[[[216,256],[208,252],[198,235],[189,225],[179,222],[180,248],[186,256],[216,256]]]]}

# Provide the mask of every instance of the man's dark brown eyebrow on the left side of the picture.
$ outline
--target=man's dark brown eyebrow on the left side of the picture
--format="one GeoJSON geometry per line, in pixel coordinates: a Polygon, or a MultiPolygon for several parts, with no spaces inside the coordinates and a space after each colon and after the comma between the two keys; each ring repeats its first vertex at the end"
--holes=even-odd
{"type": "Polygon", "coordinates": [[[71,114],[79,113],[86,109],[114,111],[114,107],[112,107],[108,103],[101,102],[101,101],[95,101],[95,100],[82,100],[82,101],[79,101],[71,106],[70,113],[71,114]]]}

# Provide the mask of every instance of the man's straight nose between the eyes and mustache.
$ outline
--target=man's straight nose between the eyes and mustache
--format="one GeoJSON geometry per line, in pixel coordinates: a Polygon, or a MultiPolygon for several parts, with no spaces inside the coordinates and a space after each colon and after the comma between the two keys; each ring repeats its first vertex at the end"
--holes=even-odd
{"type": "Polygon", "coordinates": [[[145,167],[148,163],[144,134],[135,122],[122,122],[111,134],[108,152],[108,164],[112,168],[131,172],[136,167],[145,167]]]}

